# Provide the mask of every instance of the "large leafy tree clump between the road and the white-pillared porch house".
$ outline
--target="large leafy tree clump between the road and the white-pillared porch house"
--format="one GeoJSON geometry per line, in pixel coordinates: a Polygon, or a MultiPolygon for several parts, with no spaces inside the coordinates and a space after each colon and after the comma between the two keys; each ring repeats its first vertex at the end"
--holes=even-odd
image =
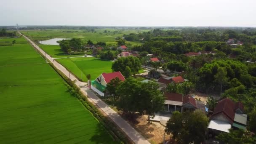
{"type": "Polygon", "coordinates": [[[133,77],[128,77],[116,88],[115,105],[117,109],[128,113],[131,117],[136,112],[146,113],[150,122],[150,117],[160,111],[164,103],[164,96],[157,90],[158,88],[159,85],[155,82],[141,83],[133,77]]]}

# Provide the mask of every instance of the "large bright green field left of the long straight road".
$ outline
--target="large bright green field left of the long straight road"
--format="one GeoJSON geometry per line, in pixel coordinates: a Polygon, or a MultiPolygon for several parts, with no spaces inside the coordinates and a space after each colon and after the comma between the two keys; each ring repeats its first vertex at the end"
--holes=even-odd
{"type": "Polygon", "coordinates": [[[28,43],[0,51],[0,144],[115,143],[28,43]]]}

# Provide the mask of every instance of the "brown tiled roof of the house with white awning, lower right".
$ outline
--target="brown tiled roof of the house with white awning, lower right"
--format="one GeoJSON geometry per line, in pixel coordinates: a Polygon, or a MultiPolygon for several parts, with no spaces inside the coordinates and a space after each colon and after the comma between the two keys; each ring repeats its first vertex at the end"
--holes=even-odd
{"type": "Polygon", "coordinates": [[[218,104],[216,105],[213,111],[212,116],[222,113],[229,119],[231,123],[233,123],[233,120],[235,118],[234,109],[235,109],[235,103],[231,99],[225,98],[218,102],[218,104]]]}

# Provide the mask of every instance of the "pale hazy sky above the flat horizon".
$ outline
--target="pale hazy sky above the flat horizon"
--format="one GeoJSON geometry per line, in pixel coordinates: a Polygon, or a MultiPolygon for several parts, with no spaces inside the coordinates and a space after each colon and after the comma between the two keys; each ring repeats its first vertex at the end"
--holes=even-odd
{"type": "Polygon", "coordinates": [[[1,0],[0,25],[256,27],[256,0],[1,0]]]}

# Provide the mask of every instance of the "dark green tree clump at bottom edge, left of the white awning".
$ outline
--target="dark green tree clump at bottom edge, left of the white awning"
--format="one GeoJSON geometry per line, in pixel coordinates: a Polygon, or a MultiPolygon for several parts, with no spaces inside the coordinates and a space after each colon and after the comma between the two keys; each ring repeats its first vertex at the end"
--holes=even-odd
{"type": "Polygon", "coordinates": [[[179,144],[200,144],[205,141],[208,120],[205,113],[199,109],[184,114],[175,111],[166,123],[165,132],[171,133],[172,139],[179,144]]]}

